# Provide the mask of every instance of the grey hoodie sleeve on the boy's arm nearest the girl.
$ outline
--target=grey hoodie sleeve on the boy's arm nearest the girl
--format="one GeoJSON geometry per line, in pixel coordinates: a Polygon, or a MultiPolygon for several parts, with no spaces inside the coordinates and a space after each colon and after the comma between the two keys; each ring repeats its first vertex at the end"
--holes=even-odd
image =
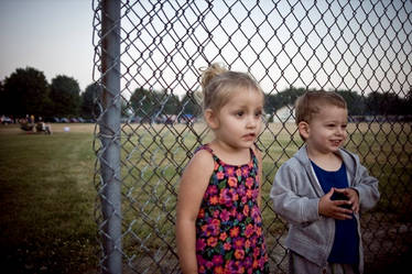
{"type": "Polygon", "coordinates": [[[299,195],[299,189],[302,184],[305,184],[302,179],[306,176],[296,173],[302,167],[295,166],[295,162],[294,158],[291,158],[279,168],[270,190],[270,197],[273,200],[274,211],[282,218],[291,223],[306,224],[321,219],[318,215],[319,199],[299,195]]]}

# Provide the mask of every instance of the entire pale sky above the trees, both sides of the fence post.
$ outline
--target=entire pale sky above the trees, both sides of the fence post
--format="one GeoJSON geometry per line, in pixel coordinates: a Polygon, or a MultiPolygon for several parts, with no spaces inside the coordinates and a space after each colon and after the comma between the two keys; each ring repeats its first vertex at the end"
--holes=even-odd
{"type": "MultiPolygon", "coordinates": [[[[30,66],[48,83],[66,75],[85,90],[94,77],[91,2],[0,0],[0,80],[30,66]]],[[[290,86],[399,92],[412,86],[409,0],[261,1],[259,8],[232,0],[123,3],[126,98],[139,87],[196,91],[198,68],[208,62],[250,72],[267,92],[290,86]]]]}

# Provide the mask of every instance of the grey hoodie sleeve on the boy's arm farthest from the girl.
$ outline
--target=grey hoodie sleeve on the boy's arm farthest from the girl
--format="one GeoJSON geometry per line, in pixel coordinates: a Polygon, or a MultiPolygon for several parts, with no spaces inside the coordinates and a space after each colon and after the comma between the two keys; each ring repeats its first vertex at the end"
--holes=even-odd
{"type": "Polygon", "coordinates": [[[368,169],[359,162],[359,157],[355,155],[356,173],[353,188],[359,194],[360,210],[365,211],[373,208],[379,201],[380,194],[378,189],[378,179],[370,176],[368,169]]]}

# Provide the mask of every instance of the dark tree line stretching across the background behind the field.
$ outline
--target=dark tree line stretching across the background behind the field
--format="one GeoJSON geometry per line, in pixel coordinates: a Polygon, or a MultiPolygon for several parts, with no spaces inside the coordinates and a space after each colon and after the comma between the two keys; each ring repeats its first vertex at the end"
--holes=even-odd
{"type": "MultiPolygon", "coordinates": [[[[274,113],[284,106],[292,106],[305,92],[304,88],[290,87],[278,94],[265,95],[264,111],[274,113]]],[[[359,95],[353,90],[336,90],[347,101],[349,116],[411,116],[412,87],[406,94],[369,92],[359,95]],[[401,96],[400,96],[401,95],[401,96]]],[[[0,114],[24,117],[83,117],[98,116],[96,99],[101,88],[94,83],[80,91],[73,77],[57,75],[47,83],[44,74],[35,68],[18,68],[0,83],[0,114]]],[[[173,91],[137,88],[129,99],[122,97],[122,117],[140,117],[153,120],[160,116],[202,114],[200,92],[188,91],[180,98],[173,91]]]]}

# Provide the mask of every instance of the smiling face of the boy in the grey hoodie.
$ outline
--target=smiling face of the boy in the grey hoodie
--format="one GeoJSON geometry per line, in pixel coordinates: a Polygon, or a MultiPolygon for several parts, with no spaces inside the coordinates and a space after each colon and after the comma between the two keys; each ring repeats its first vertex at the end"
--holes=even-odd
{"type": "Polygon", "coordinates": [[[312,150],[327,154],[336,152],[345,143],[347,123],[347,109],[326,105],[310,123],[304,127],[300,124],[300,132],[312,150]]]}

